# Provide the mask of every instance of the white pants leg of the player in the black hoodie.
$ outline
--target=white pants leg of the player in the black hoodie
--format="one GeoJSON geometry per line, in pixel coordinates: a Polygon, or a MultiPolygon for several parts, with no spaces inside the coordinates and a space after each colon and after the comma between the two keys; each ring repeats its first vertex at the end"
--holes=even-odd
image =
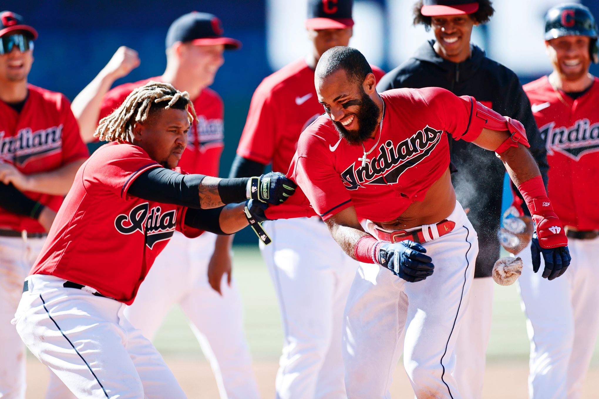
{"type": "Polygon", "coordinates": [[[491,336],[493,316],[492,277],[475,278],[470,289],[470,301],[459,329],[455,345],[453,377],[462,399],[483,397],[486,349],[491,336]]]}

